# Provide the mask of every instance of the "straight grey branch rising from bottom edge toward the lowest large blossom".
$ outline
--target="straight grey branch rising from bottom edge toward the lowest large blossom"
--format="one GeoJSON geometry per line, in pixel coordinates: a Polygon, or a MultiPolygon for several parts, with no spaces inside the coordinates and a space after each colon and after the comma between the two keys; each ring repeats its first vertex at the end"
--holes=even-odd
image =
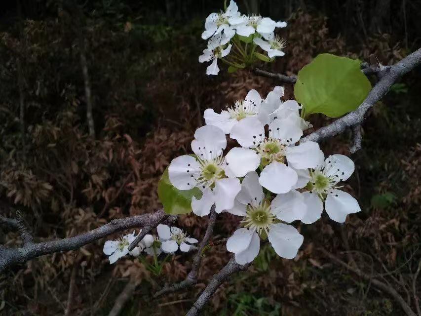
{"type": "Polygon", "coordinates": [[[250,266],[250,263],[246,265],[239,265],[235,262],[234,256],[231,257],[227,265],[221,269],[219,273],[214,275],[209,282],[208,286],[203,290],[196,302],[191,306],[190,311],[186,316],[197,316],[207,302],[211,299],[212,295],[221,286],[221,284],[232,274],[239,271],[245,271],[250,266]]]}

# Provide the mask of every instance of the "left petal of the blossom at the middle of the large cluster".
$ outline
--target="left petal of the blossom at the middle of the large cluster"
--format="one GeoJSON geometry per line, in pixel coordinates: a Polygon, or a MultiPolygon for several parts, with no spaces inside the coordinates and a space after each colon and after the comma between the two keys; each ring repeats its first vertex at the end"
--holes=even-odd
{"type": "Polygon", "coordinates": [[[255,171],[260,165],[260,156],[253,149],[234,147],[226,156],[228,168],[236,177],[244,177],[247,172],[255,171]]]}

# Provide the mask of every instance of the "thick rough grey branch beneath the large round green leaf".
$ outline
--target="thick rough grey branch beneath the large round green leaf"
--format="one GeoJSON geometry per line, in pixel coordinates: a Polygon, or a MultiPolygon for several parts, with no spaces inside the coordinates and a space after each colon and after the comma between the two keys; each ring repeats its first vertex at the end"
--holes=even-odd
{"type": "Polygon", "coordinates": [[[348,113],[333,123],[319,128],[315,132],[307,135],[302,142],[307,140],[319,142],[325,138],[342,133],[346,128],[360,124],[364,120],[366,112],[379,101],[395,83],[397,79],[413,70],[421,64],[421,48],[408,55],[400,62],[389,67],[383,67],[378,74],[379,82],[373,87],[364,102],[355,111],[348,113]]]}

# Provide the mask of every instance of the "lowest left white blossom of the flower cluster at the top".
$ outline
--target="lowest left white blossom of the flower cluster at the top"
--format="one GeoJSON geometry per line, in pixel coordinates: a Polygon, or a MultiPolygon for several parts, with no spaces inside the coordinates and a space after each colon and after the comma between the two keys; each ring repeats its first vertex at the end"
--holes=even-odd
{"type": "Polygon", "coordinates": [[[203,50],[203,54],[199,56],[199,63],[209,62],[212,63],[206,69],[206,75],[218,75],[218,58],[227,56],[231,51],[232,44],[228,43],[227,37],[221,34],[215,34],[208,42],[208,48],[203,50]]]}

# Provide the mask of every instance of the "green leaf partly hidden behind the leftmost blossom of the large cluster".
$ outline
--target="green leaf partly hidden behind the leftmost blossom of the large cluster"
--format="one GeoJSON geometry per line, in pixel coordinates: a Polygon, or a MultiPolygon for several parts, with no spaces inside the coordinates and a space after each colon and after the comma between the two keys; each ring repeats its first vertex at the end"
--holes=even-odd
{"type": "Polygon", "coordinates": [[[191,190],[178,190],[175,188],[168,177],[168,167],[158,182],[158,197],[164,211],[167,214],[188,214],[191,212],[191,198],[200,199],[202,193],[198,188],[191,190]]]}

